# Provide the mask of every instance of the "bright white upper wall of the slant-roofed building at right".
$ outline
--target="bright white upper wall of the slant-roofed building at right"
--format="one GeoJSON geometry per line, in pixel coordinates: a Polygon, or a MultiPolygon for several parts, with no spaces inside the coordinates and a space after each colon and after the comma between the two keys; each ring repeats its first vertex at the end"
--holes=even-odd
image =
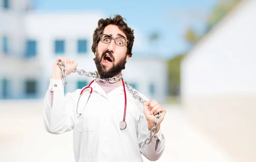
{"type": "Polygon", "coordinates": [[[182,93],[256,93],[256,1],[242,4],[189,52],[182,93]]]}

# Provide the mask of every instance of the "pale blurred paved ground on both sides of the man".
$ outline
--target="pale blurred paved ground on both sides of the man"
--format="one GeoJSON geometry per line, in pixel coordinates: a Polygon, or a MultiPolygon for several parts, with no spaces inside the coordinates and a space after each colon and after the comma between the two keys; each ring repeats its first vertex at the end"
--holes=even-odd
{"type": "MultiPolygon", "coordinates": [[[[73,132],[47,133],[41,100],[0,100],[1,162],[74,162],[73,132]]],[[[166,149],[157,162],[234,162],[218,145],[187,122],[179,105],[163,105],[166,149]]],[[[149,162],[144,158],[144,162],[149,162]]]]}

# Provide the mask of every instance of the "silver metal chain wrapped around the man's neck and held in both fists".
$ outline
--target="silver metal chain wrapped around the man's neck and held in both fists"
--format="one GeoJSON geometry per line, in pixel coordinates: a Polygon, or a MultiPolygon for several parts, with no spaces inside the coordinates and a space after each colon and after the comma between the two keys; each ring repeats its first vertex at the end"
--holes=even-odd
{"type": "MultiPolygon", "coordinates": [[[[58,62],[58,66],[59,68],[61,69],[61,72],[62,72],[62,82],[64,85],[67,84],[67,75],[66,75],[66,69],[67,69],[67,66],[64,64],[64,62],[58,62]],[[63,67],[61,67],[63,66],[63,67]]],[[[99,81],[103,81],[104,83],[115,83],[116,81],[122,79],[122,74],[119,75],[119,77],[112,77],[112,78],[106,78],[106,79],[102,79],[100,78],[99,74],[97,72],[93,73],[93,72],[86,72],[84,71],[83,69],[75,69],[72,71],[73,73],[77,72],[79,75],[85,75],[87,77],[93,77],[95,78],[96,80],[99,80],[99,81]]],[[[127,90],[132,93],[133,97],[135,99],[138,99],[140,101],[141,104],[144,105],[145,101],[140,95],[139,93],[134,90],[134,88],[132,86],[130,86],[126,81],[125,81],[125,86],[127,87],[127,90]]],[[[155,119],[154,119],[154,127],[151,128],[151,131],[150,131],[150,136],[145,140],[145,144],[148,145],[151,141],[152,141],[152,138],[153,136],[157,133],[157,127],[158,127],[158,124],[160,122],[160,116],[161,116],[161,113],[159,112],[158,114],[155,115],[155,119]]]]}

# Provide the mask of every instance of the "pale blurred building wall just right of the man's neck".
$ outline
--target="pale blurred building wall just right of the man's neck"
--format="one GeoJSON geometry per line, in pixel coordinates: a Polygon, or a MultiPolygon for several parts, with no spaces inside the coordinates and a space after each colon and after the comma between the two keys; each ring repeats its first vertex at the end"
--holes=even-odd
{"type": "Polygon", "coordinates": [[[131,57],[123,70],[124,79],[129,83],[136,83],[137,90],[149,99],[158,102],[166,101],[167,95],[167,67],[165,61],[157,58],[131,57]],[[154,95],[150,93],[150,84],[154,84],[154,95]]]}

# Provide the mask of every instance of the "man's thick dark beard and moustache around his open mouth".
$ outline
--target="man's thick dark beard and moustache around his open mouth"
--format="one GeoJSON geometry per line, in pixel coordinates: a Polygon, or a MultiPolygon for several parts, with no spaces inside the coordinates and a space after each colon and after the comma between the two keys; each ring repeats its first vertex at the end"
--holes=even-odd
{"type": "Polygon", "coordinates": [[[97,51],[95,52],[95,54],[96,54],[96,57],[93,60],[95,62],[100,78],[102,79],[112,78],[113,76],[119,74],[123,69],[125,69],[127,54],[125,55],[125,57],[121,58],[121,60],[116,64],[115,64],[115,58],[113,54],[108,50],[102,53],[101,58],[99,57],[99,53],[97,51]],[[113,66],[108,71],[106,71],[106,66],[102,65],[102,60],[105,59],[106,53],[110,55],[112,59],[112,64],[113,64],[113,66]]]}

